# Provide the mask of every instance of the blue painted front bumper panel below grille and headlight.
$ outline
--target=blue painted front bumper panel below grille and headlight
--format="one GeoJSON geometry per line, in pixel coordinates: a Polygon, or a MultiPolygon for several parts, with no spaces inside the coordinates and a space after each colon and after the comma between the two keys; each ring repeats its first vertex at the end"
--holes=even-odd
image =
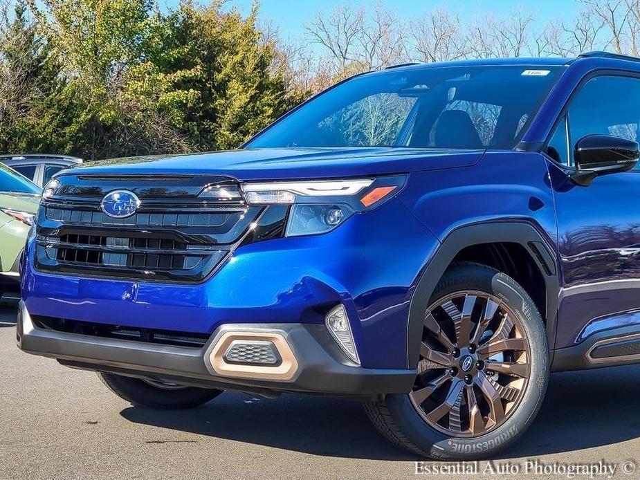
{"type": "Polygon", "coordinates": [[[324,329],[342,304],[362,366],[405,369],[410,299],[437,246],[398,199],[328,234],[241,246],[198,284],[40,271],[29,239],[21,293],[31,315],[205,337],[227,324],[324,329]]]}

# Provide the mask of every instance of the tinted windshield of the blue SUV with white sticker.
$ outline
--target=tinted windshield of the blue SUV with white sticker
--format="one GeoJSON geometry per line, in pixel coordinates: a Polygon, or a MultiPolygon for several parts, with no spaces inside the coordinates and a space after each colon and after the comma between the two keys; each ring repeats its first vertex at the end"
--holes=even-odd
{"type": "Polygon", "coordinates": [[[347,80],[250,140],[248,148],[512,149],[560,66],[455,66],[347,80]]]}

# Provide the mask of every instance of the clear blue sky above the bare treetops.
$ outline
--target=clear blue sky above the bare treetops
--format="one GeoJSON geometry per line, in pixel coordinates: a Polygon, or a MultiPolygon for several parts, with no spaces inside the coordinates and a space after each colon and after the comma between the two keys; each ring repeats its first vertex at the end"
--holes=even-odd
{"type": "MultiPolygon", "coordinates": [[[[162,1],[162,0],[161,0],[162,1]]],[[[164,0],[167,6],[175,6],[178,0],[164,0]]],[[[353,5],[373,6],[378,0],[351,0],[353,5]]],[[[202,1],[201,1],[202,3],[202,1]]],[[[334,6],[344,4],[345,0],[262,0],[260,2],[260,19],[271,21],[280,30],[283,37],[295,38],[304,33],[303,25],[313,19],[319,9],[330,11],[334,6]]],[[[474,17],[477,13],[495,12],[496,15],[512,11],[516,6],[524,6],[536,14],[538,22],[545,23],[551,19],[570,19],[580,8],[577,0],[383,0],[382,3],[398,10],[400,15],[409,19],[419,16],[425,10],[431,10],[443,3],[461,12],[463,19],[474,17]]],[[[251,0],[228,0],[227,8],[235,6],[241,12],[248,12],[251,0]]]]}

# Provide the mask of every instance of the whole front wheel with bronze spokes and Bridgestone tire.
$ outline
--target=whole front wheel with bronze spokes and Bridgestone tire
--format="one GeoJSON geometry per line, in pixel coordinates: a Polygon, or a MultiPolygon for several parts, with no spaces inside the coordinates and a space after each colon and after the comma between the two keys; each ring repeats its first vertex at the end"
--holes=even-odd
{"type": "Polygon", "coordinates": [[[549,379],[545,327],[511,277],[459,264],[439,281],[409,394],[366,403],[380,432],[433,459],[492,456],[538,413],[549,379]]]}

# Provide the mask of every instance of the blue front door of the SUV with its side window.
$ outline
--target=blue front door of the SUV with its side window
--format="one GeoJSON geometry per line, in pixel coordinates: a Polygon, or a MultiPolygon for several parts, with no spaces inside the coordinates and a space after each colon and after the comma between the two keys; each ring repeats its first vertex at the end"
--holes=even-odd
{"type": "Polygon", "coordinates": [[[566,175],[580,138],[637,141],[639,122],[640,78],[598,75],[574,95],[547,147],[563,275],[556,348],[621,322],[640,324],[640,170],[600,176],[588,187],[566,175]]]}

